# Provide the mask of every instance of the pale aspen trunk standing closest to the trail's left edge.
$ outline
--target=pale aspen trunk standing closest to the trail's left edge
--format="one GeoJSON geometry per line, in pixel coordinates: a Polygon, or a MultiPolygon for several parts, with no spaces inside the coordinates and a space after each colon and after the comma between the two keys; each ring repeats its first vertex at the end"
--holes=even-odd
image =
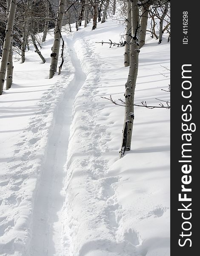
{"type": "Polygon", "coordinates": [[[54,73],[57,70],[57,62],[58,62],[59,49],[60,49],[60,33],[62,29],[62,24],[63,24],[63,15],[65,12],[65,2],[66,0],[60,0],[60,3],[59,3],[56,26],[54,29],[54,44],[51,52],[51,65],[50,65],[50,71],[49,71],[49,78],[52,78],[54,76],[54,73]]]}

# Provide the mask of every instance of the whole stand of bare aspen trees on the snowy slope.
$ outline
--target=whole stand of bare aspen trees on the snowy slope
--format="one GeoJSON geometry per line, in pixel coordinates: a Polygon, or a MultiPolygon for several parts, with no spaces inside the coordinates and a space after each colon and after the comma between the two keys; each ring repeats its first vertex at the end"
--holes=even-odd
{"type": "MultiPolygon", "coordinates": [[[[134,121],[134,90],[137,81],[138,58],[140,48],[145,44],[146,31],[151,37],[162,43],[163,33],[168,34],[170,40],[170,1],[169,0],[1,0],[0,2],[0,95],[5,89],[11,88],[13,79],[13,52],[26,63],[26,51],[32,44],[38,58],[42,62],[43,42],[49,29],[54,29],[54,43],[49,67],[49,79],[57,70],[60,74],[62,62],[58,64],[58,57],[63,56],[60,48],[64,46],[62,25],[71,32],[71,23],[86,27],[92,20],[92,30],[97,29],[98,23],[105,23],[106,18],[122,20],[126,23],[126,31],[117,45],[124,47],[124,66],[129,66],[129,74],[125,84],[124,127],[120,157],[131,148],[131,136],[134,121]],[[147,26],[148,18],[151,26],[147,26]],[[159,31],[157,33],[156,31],[159,31]],[[43,36],[38,37],[38,33],[43,36]],[[59,65],[59,66],[58,66],[59,65]]],[[[106,43],[106,42],[105,42],[106,43]]],[[[2,96],[1,96],[2,97],[2,96]]],[[[116,104],[110,98],[110,100],[116,104]]],[[[142,106],[148,107],[143,104],[142,106]]],[[[167,106],[160,106],[169,108],[167,106]]]]}

